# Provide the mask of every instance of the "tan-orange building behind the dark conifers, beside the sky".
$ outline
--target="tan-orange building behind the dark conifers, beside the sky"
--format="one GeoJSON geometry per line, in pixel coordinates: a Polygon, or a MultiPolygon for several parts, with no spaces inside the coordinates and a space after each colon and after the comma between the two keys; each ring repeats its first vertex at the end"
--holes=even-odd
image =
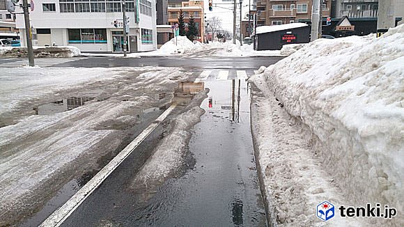
{"type": "MultiPolygon", "coordinates": [[[[189,17],[194,17],[194,22],[198,28],[198,36],[196,40],[204,42],[205,36],[205,13],[204,13],[203,0],[169,0],[169,24],[174,25],[178,23],[180,11],[184,15],[184,22],[189,22],[189,17]]],[[[187,24],[185,24],[187,25],[187,24]]]]}

